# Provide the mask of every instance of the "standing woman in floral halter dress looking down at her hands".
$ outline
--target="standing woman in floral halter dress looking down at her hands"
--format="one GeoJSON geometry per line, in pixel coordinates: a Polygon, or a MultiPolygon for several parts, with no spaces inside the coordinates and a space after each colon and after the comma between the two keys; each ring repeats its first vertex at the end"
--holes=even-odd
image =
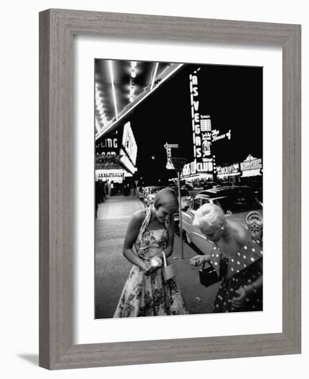
{"type": "Polygon", "coordinates": [[[178,199],[171,188],[161,189],[153,207],[136,212],[129,222],[123,255],[133,263],[114,317],[188,314],[175,280],[164,282],[162,252],[173,252],[173,214],[178,199]]]}

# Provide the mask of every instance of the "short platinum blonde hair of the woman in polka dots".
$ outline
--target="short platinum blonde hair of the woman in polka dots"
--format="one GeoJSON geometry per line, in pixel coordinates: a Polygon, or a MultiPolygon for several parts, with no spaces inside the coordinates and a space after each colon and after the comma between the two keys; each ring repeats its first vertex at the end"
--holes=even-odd
{"type": "Polygon", "coordinates": [[[204,204],[195,212],[192,225],[206,229],[210,226],[220,227],[222,223],[225,223],[222,208],[215,204],[204,204]]]}

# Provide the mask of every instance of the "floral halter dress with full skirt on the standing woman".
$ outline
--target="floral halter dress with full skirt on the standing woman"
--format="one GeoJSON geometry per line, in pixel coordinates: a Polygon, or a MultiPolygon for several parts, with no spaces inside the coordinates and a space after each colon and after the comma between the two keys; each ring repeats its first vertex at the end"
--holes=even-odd
{"type": "MultiPolygon", "coordinates": [[[[134,244],[134,251],[142,260],[150,260],[162,252],[168,240],[168,225],[162,229],[148,230],[150,218],[151,208],[148,208],[134,244]]],[[[147,276],[140,267],[134,265],[122,290],[114,317],[164,316],[188,313],[184,298],[175,280],[170,279],[164,282],[160,268],[147,276]]]]}

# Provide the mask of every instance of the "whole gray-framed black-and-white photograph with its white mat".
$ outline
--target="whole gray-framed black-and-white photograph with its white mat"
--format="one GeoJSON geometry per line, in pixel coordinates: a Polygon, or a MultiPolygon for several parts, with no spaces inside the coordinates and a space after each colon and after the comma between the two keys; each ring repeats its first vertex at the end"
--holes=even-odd
{"type": "Polygon", "coordinates": [[[41,367],[300,353],[300,36],[40,13],[41,367]]]}

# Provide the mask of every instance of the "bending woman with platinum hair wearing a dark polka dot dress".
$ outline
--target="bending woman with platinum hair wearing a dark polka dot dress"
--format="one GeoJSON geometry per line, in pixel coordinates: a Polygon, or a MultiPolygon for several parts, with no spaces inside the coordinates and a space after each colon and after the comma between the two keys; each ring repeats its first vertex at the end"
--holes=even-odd
{"type": "Polygon", "coordinates": [[[204,204],[195,213],[193,225],[211,241],[211,254],[195,256],[193,266],[210,262],[223,276],[215,298],[214,312],[261,311],[263,258],[262,240],[248,230],[226,220],[217,205],[204,204]]]}

